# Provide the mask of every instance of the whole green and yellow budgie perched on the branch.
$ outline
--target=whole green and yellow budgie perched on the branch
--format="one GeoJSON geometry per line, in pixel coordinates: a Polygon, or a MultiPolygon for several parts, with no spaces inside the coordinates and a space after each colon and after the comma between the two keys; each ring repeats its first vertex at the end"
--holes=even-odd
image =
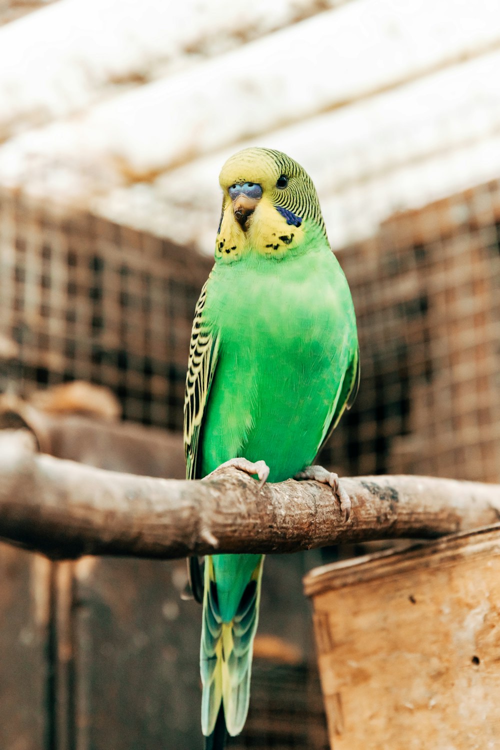
{"type": "MultiPolygon", "coordinates": [[[[226,463],[266,480],[328,482],[311,466],[354,401],[355,312],[313,181],[280,151],[246,148],[220,172],[215,264],[193,323],[184,405],[187,478],[226,463]]],[[[205,559],[200,665],[205,748],[241,732],[262,555],[205,559]]]]}

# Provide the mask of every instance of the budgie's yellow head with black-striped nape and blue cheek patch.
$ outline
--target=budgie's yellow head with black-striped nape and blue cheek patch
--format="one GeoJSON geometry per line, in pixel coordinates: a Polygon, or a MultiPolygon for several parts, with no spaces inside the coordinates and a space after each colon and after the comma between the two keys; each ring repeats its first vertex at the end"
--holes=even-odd
{"type": "Polygon", "coordinates": [[[245,252],[282,258],[326,240],[313,181],[281,151],[244,148],[220,172],[223,206],[216,260],[232,263],[245,252]]]}

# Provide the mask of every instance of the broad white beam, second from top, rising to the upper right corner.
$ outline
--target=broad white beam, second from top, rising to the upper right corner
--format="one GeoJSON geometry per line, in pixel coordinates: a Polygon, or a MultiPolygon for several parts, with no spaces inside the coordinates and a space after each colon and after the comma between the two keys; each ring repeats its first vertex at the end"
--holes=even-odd
{"type": "MultiPolygon", "coordinates": [[[[0,147],[1,179],[11,187],[24,185],[34,190],[36,186],[38,194],[64,202],[72,197],[89,205],[103,186],[148,183],[217,148],[235,148],[249,137],[262,139],[278,127],[344,108],[499,49],[496,1],[460,6],[460,23],[450,23],[456,9],[452,0],[406,0],[399,5],[388,0],[357,0],[318,13],[214,55],[202,65],[172,71],[123,95],[103,98],[81,117],[55,118],[40,129],[35,123],[32,130],[11,136],[0,147]],[[231,116],[221,116],[225,110],[231,116]]],[[[56,13],[57,9],[55,5],[47,11],[56,13]]],[[[142,6],[141,12],[144,15],[142,6]]],[[[237,15],[241,17],[239,8],[237,15]]],[[[71,27],[78,28],[74,19],[71,27]]],[[[46,54],[50,45],[43,34],[40,38],[45,39],[46,54]]],[[[128,35],[124,39],[122,55],[130,47],[128,35]]],[[[161,35],[160,44],[162,49],[169,46],[161,35]]],[[[96,42],[95,48],[108,52],[106,43],[99,47],[96,42]]],[[[6,66],[16,71],[12,56],[6,66]]],[[[122,62],[121,69],[126,68],[130,66],[122,62]]],[[[147,65],[132,66],[128,76],[133,78],[135,71],[140,77],[147,69],[147,65]]],[[[79,81],[88,79],[79,73],[79,81]]],[[[1,80],[0,76],[0,84],[1,80]]],[[[10,113],[16,101],[24,101],[18,92],[22,80],[8,79],[3,103],[0,97],[1,112],[10,113]],[[17,92],[16,97],[12,98],[11,91],[17,92]]],[[[39,97],[43,97],[42,84],[34,92],[39,97]]],[[[60,92],[70,86],[58,81],[56,88],[60,92]]],[[[75,87],[74,98],[78,99],[81,88],[80,83],[75,87]]],[[[50,100],[46,94],[44,98],[50,100]]],[[[83,94],[82,98],[85,101],[83,94]]],[[[43,108],[40,102],[36,113],[43,108]]],[[[16,127],[9,124],[8,130],[15,133],[16,127]]],[[[325,148],[331,142],[328,139],[325,148]]]]}

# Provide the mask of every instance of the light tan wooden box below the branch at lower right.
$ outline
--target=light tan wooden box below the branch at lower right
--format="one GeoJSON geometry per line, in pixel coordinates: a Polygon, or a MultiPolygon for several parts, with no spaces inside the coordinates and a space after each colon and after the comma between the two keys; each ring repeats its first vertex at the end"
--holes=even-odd
{"type": "Polygon", "coordinates": [[[500,529],[305,578],[332,750],[496,748],[500,529]]]}

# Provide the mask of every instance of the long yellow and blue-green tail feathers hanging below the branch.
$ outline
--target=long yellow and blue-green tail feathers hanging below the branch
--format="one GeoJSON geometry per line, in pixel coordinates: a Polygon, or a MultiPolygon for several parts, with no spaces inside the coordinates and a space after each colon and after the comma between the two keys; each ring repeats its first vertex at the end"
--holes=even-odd
{"type": "Polygon", "coordinates": [[[200,671],[206,750],[223,750],[225,730],[231,736],[239,734],[247,718],[253,637],[259,619],[262,579],[262,557],[252,557],[255,567],[249,575],[250,580],[249,577],[246,579],[248,583],[231,619],[227,616],[225,602],[220,601],[213,559],[205,558],[200,671]]]}

